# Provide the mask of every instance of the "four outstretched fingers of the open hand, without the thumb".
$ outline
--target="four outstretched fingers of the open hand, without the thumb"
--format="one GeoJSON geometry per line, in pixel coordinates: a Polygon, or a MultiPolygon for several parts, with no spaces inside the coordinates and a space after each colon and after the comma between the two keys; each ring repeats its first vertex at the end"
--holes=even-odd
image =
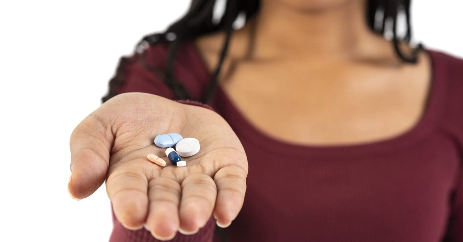
{"type": "Polygon", "coordinates": [[[215,182],[209,175],[191,174],[181,185],[165,177],[156,177],[148,184],[142,170],[118,166],[110,170],[106,181],[114,214],[128,229],[146,223],[159,240],[172,239],[177,230],[186,235],[196,233],[213,211],[217,224],[227,227],[243,205],[246,169],[237,165],[221,168],[215,182]]]}

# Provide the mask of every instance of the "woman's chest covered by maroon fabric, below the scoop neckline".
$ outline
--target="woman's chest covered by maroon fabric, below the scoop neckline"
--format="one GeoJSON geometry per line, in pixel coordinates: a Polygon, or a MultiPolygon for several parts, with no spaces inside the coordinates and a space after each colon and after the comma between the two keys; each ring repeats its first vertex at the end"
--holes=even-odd
{"type": "Polygon", "coordinates": [[[250,175],[244,207],[230,228],[233,241],[436,242],[443,236],[459,163],[444,137],[337,158],[284,153],[239,131],[238,137],[250,175]]]}

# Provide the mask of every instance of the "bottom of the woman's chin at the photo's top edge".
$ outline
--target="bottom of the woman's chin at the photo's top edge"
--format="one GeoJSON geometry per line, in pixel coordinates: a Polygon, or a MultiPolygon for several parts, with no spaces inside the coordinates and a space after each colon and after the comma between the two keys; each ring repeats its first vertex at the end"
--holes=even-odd
{"type": "Polygon", "coordinates": [[[290,6],[300,11],[323,11],[352,0],[270,0],[290,6]]]}

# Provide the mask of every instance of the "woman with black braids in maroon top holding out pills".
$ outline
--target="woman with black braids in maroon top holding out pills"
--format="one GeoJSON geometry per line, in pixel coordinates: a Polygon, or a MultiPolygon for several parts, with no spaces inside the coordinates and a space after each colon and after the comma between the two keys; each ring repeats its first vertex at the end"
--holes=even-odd
{"type": "Polygon", "coordinates": [[[463,241],[463,61],[407,44],[409,1],[214,2],[122,58],[72,134],[69,192],[106,179],[111,242],[463,241]],[[200,140],[186,168],[146,159],[170,132],[200,140]]]}

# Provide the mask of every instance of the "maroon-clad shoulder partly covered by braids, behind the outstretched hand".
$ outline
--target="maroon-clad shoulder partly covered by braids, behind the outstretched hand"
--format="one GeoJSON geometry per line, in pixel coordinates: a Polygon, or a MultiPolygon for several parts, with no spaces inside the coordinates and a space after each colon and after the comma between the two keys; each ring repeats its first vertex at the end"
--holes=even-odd
{"type": "Polygon", "coordinates": [[[116,74],[110,81],[110,90],[104,99],[119,93],[144,92],[174,99],[173,87],[180,83],[191,98],[201,95],[202,83],[207,80],[207,72],[201,66],[200,55],[191,41],[175,45],[163,34],[150,35],[138,44],[131,56],[120,59],[116,74]],[[147,38],[150,41],[146,41],[147,38]],[[173,51],[173,49],[176,49],[173,51]],[[172,59],[171,69],[177,84],[167,80],[169,58],[172,59]]]}

